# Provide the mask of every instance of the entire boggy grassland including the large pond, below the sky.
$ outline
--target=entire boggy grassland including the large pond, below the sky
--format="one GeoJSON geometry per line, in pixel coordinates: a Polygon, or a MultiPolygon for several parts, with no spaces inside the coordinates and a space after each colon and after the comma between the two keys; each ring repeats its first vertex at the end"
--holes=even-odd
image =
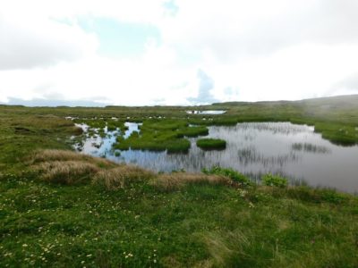
{"type": "Polygon", "coordinates": [[[357,127],[358,96],[0,105],[0,266],[357,267],[357,127]]]}

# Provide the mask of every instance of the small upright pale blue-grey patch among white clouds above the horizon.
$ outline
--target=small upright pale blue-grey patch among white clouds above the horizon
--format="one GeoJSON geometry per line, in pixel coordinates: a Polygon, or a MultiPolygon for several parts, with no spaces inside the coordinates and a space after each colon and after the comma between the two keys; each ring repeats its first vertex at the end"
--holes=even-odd
{"type": "Polygon", "coordinates": [[[214,80],[202,70],[198,70],[199,92],[196,97],[188,97],[187,100],[194,105],[212,104],[217,102],[217,99],[211,95],[211,90],[214,89],[214,80]]]}

